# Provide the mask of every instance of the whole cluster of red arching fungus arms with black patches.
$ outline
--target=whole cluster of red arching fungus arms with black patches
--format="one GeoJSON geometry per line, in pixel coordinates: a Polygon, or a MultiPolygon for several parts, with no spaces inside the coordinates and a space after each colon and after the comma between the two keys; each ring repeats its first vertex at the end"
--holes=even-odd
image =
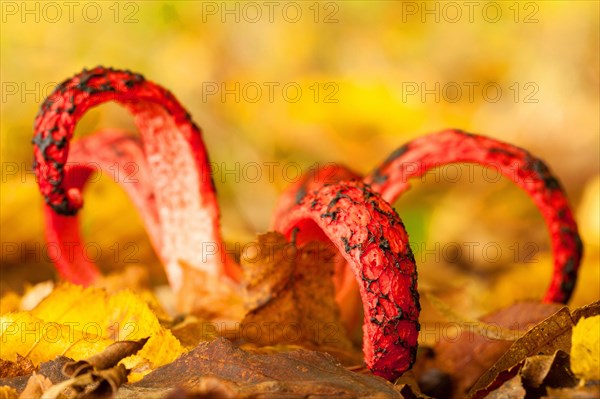
{"type": "MultiPolygon", "coordinates": [[[[182,289],[182,262],[222,284],[241,284],[240,266],[231,257],[222,250],[202,250],[207,244],[222,248],[208,153],[200,128],[168,90],[126,70],[83,70],[44,101],[34,128],[34,168],[45,199],[49,243],[65,253],[67,246],[81,243],[77,212],[94,172],[89,161],[106,169],[117,161],[119,183],[140,212],[174,291],[182,289]],[[133,114],[141,139],[104,130],[71,143],[85,112],[108,101],[133,114]],[[133,173],[136,179],[127,181],[133,173]]],[[[488,137],[459,130],[424,136],[392,152],[366,177],[343,166],[311,171],[282,194],[275,210],[273,228],[293,242],[319,240],[339,250],[338,303],[360,295],[365,362],[389,380],[415,360],[420,311],[415,259],[390,204],[409,188],[411,178],[455,162],[495,168],[533,199],[546,220],[554,256],[544,301],[567,302],[582,245],[564,190],[540,159],[488,137]]],[[[100,277],[96,265],[77,251],[55,262],[65,280],[90,285],[100,277]]]]}

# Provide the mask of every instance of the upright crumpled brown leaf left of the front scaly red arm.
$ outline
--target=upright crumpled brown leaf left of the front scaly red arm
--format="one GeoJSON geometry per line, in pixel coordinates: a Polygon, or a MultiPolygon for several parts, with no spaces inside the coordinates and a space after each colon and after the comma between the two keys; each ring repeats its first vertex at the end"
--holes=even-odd
{"type": "Polygon", "coordinates": [[[296,249],[278,233],[242,255],[250,311],[241,337],[256,345],[292,344],[350,351],[334,299],[335,251],[320,242],[296,249]]]}

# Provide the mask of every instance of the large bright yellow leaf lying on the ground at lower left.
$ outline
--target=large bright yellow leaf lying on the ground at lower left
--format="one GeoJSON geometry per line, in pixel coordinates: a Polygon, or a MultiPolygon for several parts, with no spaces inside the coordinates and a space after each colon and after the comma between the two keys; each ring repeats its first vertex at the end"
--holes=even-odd
{"type": "Polygon", "coordinates": [[[133,381],[183,353],[148,304],[127,290],[109,295],[99,288],[65,283],[30,313],[5,315],[0,321],[3,332],[10,328],[10,343],[0,348],[0,358],[8,360],[17,353],[26,354],[34,364],[57,355],[81,360],[114,341],[150,337],[141,351],[123,360],[133,369],[133,381]]]}

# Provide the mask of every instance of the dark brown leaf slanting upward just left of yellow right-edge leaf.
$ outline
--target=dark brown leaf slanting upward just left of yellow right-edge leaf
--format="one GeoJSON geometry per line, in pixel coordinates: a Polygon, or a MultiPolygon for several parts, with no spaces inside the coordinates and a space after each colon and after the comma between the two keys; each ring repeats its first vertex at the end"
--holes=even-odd
{"type": "Polygon", "coordinates": [[[504,381],[507,370],[515,370],[530,355],[552,355],[557,350],[569,352],[573,320],[567,307],[548,317],[512,344],[509,350],[475,383],[469,395],[483,398],[504,381]]]}

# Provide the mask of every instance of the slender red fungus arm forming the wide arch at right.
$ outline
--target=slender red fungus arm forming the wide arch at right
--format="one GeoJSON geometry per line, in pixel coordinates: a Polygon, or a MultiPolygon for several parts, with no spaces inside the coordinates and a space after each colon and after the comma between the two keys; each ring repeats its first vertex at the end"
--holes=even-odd
{"type": "Polygon", "coordinates": [[[495,168],[529,194],[546,221],[552,242],[554,270],[544,301],[566,303],[577,280],[583,253],[581,239],[558,179],[542,160],[526,150],[489,137],[446,130],[398,148],[365,182],[393,203],[408,190],[409,179],[456,162],[495,168]]]}

